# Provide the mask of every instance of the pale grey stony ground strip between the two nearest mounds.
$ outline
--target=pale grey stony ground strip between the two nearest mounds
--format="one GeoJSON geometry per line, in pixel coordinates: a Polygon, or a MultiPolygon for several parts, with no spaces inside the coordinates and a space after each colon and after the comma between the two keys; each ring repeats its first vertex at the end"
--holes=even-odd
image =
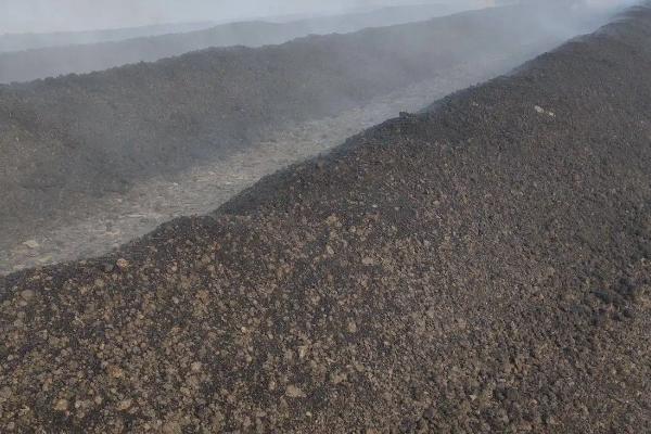
{"type": "Polygon", "coordinates": [[[28,235],[18,232],[0,238],[0,273],[98,256],[171,218],[209,213],[265,175],[326,152],[400,111],[419,111],[433,100],[488,79],[501,72],[492,69],[500,63],[459,66],[337,116],[269,131],[265,141],[230,157],[80,203],[59,219],[42,221],[28,235]]]}

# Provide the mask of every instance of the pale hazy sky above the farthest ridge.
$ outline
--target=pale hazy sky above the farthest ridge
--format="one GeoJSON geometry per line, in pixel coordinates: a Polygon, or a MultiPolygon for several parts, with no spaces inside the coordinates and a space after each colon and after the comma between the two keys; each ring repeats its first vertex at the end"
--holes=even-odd
{"type": "Polygon", "coordinates": [[[492,0],[0,0],[0,34],[340,12],[385,4],[492,0]]]}

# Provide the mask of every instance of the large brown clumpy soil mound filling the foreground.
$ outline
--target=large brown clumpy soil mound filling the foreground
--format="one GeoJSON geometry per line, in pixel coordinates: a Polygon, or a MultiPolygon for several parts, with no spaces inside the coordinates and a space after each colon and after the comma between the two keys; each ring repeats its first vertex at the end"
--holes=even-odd
{"type": "Polygon", "coordinates": [[[651,431],[650,28],[3,279],[2,431],[651,431]]]}

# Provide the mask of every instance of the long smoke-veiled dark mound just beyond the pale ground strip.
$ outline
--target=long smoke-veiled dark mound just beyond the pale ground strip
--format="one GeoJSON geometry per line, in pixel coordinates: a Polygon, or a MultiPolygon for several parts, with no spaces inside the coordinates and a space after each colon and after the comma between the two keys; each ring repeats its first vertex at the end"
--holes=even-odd
{"type": "Polygon", "coordinates": [[[269,128],[465,64],[513,67],[557,38],[526,8],[507,8],[0,87],[0,242],[89,197],[240,152],[269,128]]]}

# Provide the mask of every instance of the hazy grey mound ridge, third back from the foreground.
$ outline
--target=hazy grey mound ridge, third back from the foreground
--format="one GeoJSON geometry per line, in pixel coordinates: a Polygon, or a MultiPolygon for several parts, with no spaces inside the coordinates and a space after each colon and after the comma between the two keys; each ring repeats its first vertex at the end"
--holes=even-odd
{"type": "MultiPolygon", "coordinates": [[[[156,36],[143,35],[132,39],[125,38],[126,40],[120,41],[0,53],[0,84],[30,81],[73,73],[90,73],[129,63],[153,62],[209,47],[261,47],[286,42],[309,34],[349,33],[366,27],[425,21],[443,15],[450,10],[451,8],[442,4],[406,5],[289,23],[253,21],[217,26],[204,24],[200,29],[190,27],[186,31],[183,31],[183,27],[179,26],[179,31],[168,31],[156,36]]],[[[117,38],[120,34],[128,35],[129,30],[145,31],[148,29],[148,27],[144,27],[141,29],[125,29],[122,33],[115,30],[105,34],[99,33],[98,35],[81,34],[79,38],[81,40],[93,36],[98,38],[114,36],[114,38],[117,38]]],[[[175,27],[170,27],[170,30],[174,29],[175,27]]],[[[153,27],[150,30],[155,31],[157,28],[153,27]]],[[[74,35],[69,37],[72,38],[74,35]]],[[[54,41],[58,39],[64,39],[64,36],[62,35],[61,38],[53,37],[54,41]]],[[[0,49],[1,43],[2,38],[0,38],[0,49]]]]}

